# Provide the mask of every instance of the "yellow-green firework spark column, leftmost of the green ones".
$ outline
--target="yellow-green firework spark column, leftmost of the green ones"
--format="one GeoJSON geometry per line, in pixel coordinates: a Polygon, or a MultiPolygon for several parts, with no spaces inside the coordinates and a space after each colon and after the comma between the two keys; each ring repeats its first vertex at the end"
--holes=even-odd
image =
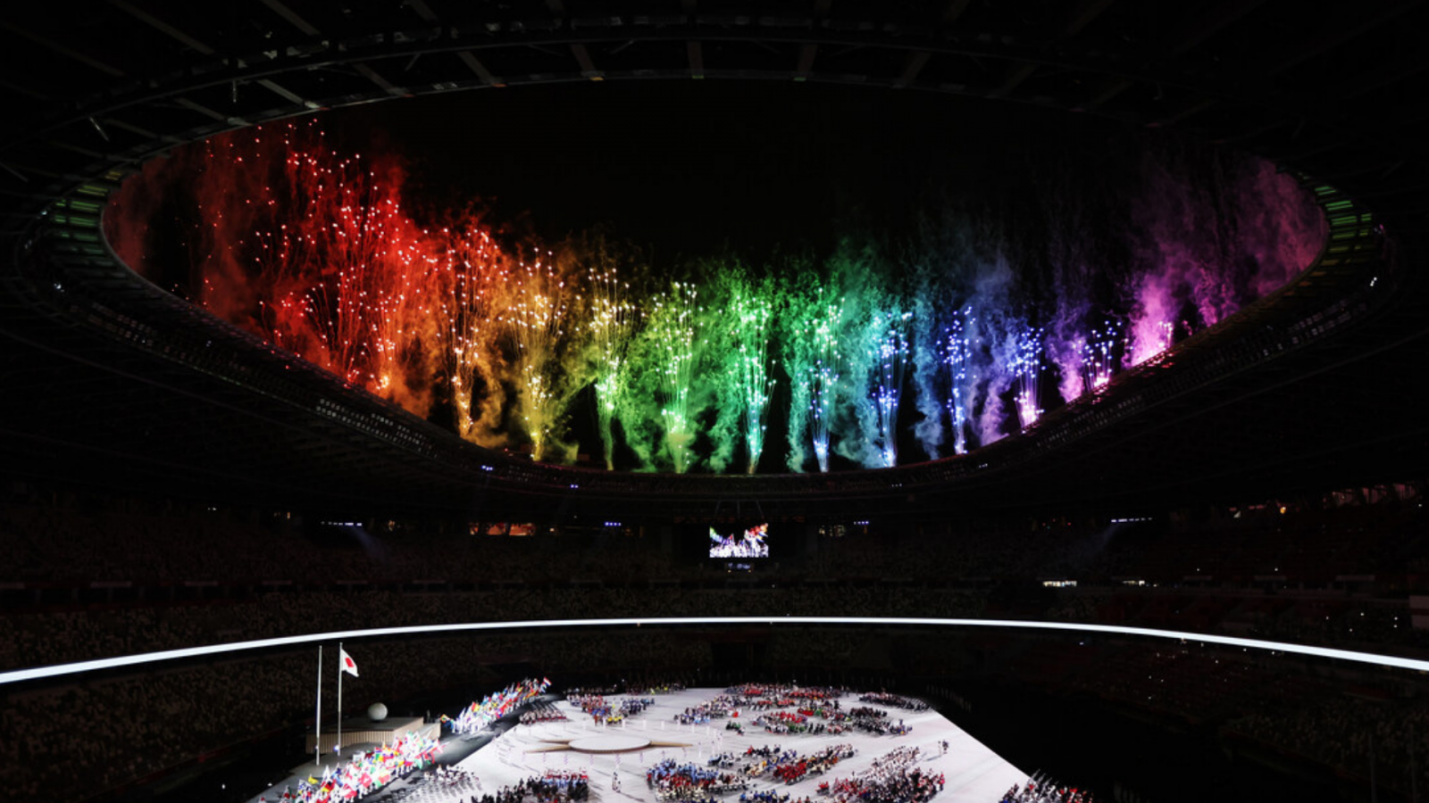
{"type": "Polygon", "coordinates": [[[652,370],[659,381],[664,449],[672,466],[682,474],[694,460],[694,369],[703,313],[697,301],[694,284],[672,281],[656,296],[646,327],[654,360],[646,370],[652,370]]]}

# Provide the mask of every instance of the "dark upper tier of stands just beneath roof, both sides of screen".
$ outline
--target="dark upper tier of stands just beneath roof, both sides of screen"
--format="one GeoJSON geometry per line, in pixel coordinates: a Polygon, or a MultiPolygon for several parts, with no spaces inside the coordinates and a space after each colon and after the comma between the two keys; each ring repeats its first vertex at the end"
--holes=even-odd
{"type": "MultiPolygon", "coordinates": [[[[1140,577],[1163,586],[1186,577],[1209,577],[1249,587],[1256,577],[1279,577],[1292,586],[1323,586],[1335,576],[1402,577],[1406,564],[1425,562],[1425,550],[1419,549],[1425,537],[1422,523],[1418,500],[1409,500],[1292,514],[1238,510],[1235,516],[1209,522],[1143,524],[1143,529],[1090,520],[850,527],[840,530],[840,537],[817,539],[817,549],[787,560],[780,572],[827,579],[993,583],[1007,577],[1086,582],[1140,577]],[[1190,539],[1196,549],[1187,553],[1185,544],[1190,539]]],[[[473,534],[456,524],[370,522],[363,549],[337,549],[330,539],[326,543],[330,549],[322,549],[314,544],[313,529],[313,522],[289,514],[36,494],[0,510],[0,536],[10,549],[3,580],[547,583],[589,577],[687,580],[717,570],[672,560],[660,549],[657,527],[566,530],[566,534],[516,539],[473,534]],[[614,562],[606,560],[610,553],[614,562]],[[620,572],[604,572],[614,566],[620,572]]],[[[772,540],[802,537],[797,523],[775,529],[779,533],[772,540]]]]}

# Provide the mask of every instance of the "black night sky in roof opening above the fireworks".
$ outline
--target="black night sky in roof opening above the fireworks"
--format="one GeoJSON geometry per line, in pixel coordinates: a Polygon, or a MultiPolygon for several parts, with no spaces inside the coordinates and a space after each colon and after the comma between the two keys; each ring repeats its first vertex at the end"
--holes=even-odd
{"type": "Polygon", "coordinates": [[[823,249],[855,226],[906,223],[930,190],[1026,193],[1029,171],[1099,161],[1126,139],[1006,103],[713,80],[454,93],[334,111],[323,127],[404,154],[419,203],[480,197],[489,223],[544,239],[609,223],[663,257],[823,249]]]}

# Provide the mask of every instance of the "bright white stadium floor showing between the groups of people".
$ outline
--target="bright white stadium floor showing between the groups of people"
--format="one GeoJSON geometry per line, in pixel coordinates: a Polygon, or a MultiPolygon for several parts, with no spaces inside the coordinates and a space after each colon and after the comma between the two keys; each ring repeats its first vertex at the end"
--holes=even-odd
{"type": "MultiPolygon", "coordinates": [[[[826,800],[816,793],[820,782],[832,783],[835,779],[867,770],[875,759],[895,747],[909,744],[920,749],[920,767],[943,773],[947,779],[947,784],[933,797],[933,803],[997,803],[1009,787],[1027,780],[1027,773],[1003,760],[940,713],[933,710],[912,713],[860,703],[857,694],[845,696],[840,704],[845,709],[855,706],[885,709],[892,722],[902,719],[913,727],[913,732],[906,736],[875,736],[862,732],[816,736],[766,733],[752,724],[757,712],[747,709],[742,709],[739,717],[745,724],[745,734],[726,730],[727,720],[714,720],[707,726],[683,726],[673,722],[686,707],[699,706],[722,693],[723,689],[689,689],[673,694],[654,694],[654,704],[624,724],[599,727],[592,724],[590,717],[576,706],[559,702],[556,706],[570,717],[569,722],[512,727],[490,744],[457,762],[456,767],[476,776],[474,783],[469,782],[462,789],[442,789],[439,783],[413,784],[407,779],[374,793],[367,800],[470,803],[473,796],[480,799],[482,794],[493,794],[503,786],[544,774],[546,770],[584,770],[590,776],[592,803],[657,803],[654,790],[644,783],[644,772],[650,766],[664,759],[704,766],[712,756],[720,753],[743,753],[746,747],[775,744],[785,750],[799,750],[800,756],[833,744],[852,744],[857,753],[825,774],[810,776],[799,783],[783,784],[767,777],[755,779],[749,784],[750,792],[776,790],[789,794],[790,800],[812,797],[817,803],[826,800]],[[940,754],[943,740],[947,742],[946,754],[940,754]],[[584,747],[590,752],[543,752],[559,747],[562,742],[572,742],[572,747],[584,747]],[[640,744],[646,742],[684,743],[689,747],[649,746],[642,750],[640,744]],[[610,780],[617,773],[620,790],[612,792],[610,780]]],[[[624,696],[606,699],[619,706],[624,696]]],[[[727,794],[725,800],[737,803],[739,793],[727,794]]]]}

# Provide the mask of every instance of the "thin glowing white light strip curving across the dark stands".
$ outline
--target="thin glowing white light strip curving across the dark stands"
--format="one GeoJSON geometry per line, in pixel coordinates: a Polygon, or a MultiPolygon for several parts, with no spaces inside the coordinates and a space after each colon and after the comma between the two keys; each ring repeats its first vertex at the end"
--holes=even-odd
{"type": "Polygon", "coordinates": [[[0,673],[0,686],[6,683],[21,683],[24,680],[41,680],[47,677],[64,677],[67,674],[83,674],[104,669],[119,669],[126,666],[140,666],[166,660],[193,659],[203,656],[217,656],[224,653],[239,653],[244,650],[263,650],[269,647],[289,647],[296,644],[313,644],[317,642],[336,642],[339,639],[372,639],[382,636],[414,636],[427,633],[463,633],[472,630],[540,630],[554,627],[630,627],[642,624],[905,624],[919,627],[1013,627],[1023,630],[1066,630],[1072,633],[1107,633],[1113,636],[1147,636],[1152,639],[1175,639],[1177,642],[1200,642],[1206,644],[1222,644],[1226,647],[1246,647],[1269,650],[1276,653],[1290,653],[1299,656],[1313,656],[1335,660],[1368,663],[1373,666],[1388,666],[1393,669],[1408,669],[1412,672],[1429,672],[1429,660],[1406,659],[1399,656],[1382,656],[1376,653],[1360,653],[1356,650],[1335,650],[1329,647],[1310,647],[1306,644],[1289,644],[1285,642],[1265,642],[1260,639],[1239,639],[1236,636],[1212,636],[1208,633],[1187,633],[1183,630],[1157,630],[1153,627],[1122,627],[1119,624],[1082,624],[1075,622],[1029,622],[1013,619],[922,619],[922,617],[883,617],[883,616],[689,616],[667,619],[544,619],[529,622],[469,622],[464,624],[420,624],[412,627],[373,627],[370,630],[334,630],[332,633],[309,633],[306,636],[282,636],[277,639],[257,639],[252,642],[230,642],[227,644],[209,644],[204,647],[184,647],[180,650],[163,650],[157,653],[140,653],[136,656],[120,656],[113,659],[96,659],[76,663],[60,663],[54,666],[40,666],[33,669],[19,669],[0,673]]]}

